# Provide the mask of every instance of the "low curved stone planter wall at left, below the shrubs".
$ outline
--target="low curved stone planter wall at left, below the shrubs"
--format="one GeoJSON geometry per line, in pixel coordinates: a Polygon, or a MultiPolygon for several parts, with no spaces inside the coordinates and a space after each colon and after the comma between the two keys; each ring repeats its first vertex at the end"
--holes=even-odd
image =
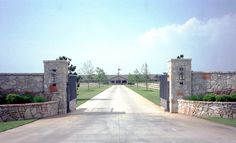
{"type": "Polygon", "coordinates": [[[57,101],[0,105],[0,121],[39,119],[57,114],[57,101]]]}

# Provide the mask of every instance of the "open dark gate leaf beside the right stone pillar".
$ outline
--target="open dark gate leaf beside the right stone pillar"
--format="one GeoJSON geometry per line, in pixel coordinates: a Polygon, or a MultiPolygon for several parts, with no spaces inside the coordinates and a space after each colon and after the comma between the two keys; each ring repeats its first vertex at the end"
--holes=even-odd
{"type": "Polygon", "coordinates": [[[167,80],[168,75],[164,74],[160,76],[160,98],[161,106],[165,111],[170,111],[169,108],[169,81],[167,80]]]}

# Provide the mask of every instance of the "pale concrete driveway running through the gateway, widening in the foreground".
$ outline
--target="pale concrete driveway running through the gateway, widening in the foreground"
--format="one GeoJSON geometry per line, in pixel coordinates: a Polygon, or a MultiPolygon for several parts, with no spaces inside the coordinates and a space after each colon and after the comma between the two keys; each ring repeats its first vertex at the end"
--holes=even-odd
{"type": "Polygon", "coordinates": [[[57,118],[0,133],[0,143],[236,143],[236,128],[160,108],[125,86],[112,86],[57,118]]]}

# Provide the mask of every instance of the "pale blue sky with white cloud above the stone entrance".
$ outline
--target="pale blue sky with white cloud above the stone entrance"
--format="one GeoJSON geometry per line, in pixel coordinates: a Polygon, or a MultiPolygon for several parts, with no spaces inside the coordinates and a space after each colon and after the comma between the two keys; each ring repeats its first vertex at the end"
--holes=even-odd
{"type": "Polygon", "coordinates": [[[236,71],[236,0],[0,0],[0,51],[0,73],[67,56],[161,74],[180,54],[194,71],[236,71]]]}

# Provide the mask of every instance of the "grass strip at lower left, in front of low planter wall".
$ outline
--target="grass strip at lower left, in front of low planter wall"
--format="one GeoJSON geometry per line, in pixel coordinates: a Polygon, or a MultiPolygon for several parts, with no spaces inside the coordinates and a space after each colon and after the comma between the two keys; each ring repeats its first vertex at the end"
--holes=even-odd
{"type": "Polygon", "coordinates": [[[32,120],[19,120],[19,121],[8,121],[8,122],[0,122],[0,132],[13,129],[28,123],[35,121],[36,119],[32,120]]]}

